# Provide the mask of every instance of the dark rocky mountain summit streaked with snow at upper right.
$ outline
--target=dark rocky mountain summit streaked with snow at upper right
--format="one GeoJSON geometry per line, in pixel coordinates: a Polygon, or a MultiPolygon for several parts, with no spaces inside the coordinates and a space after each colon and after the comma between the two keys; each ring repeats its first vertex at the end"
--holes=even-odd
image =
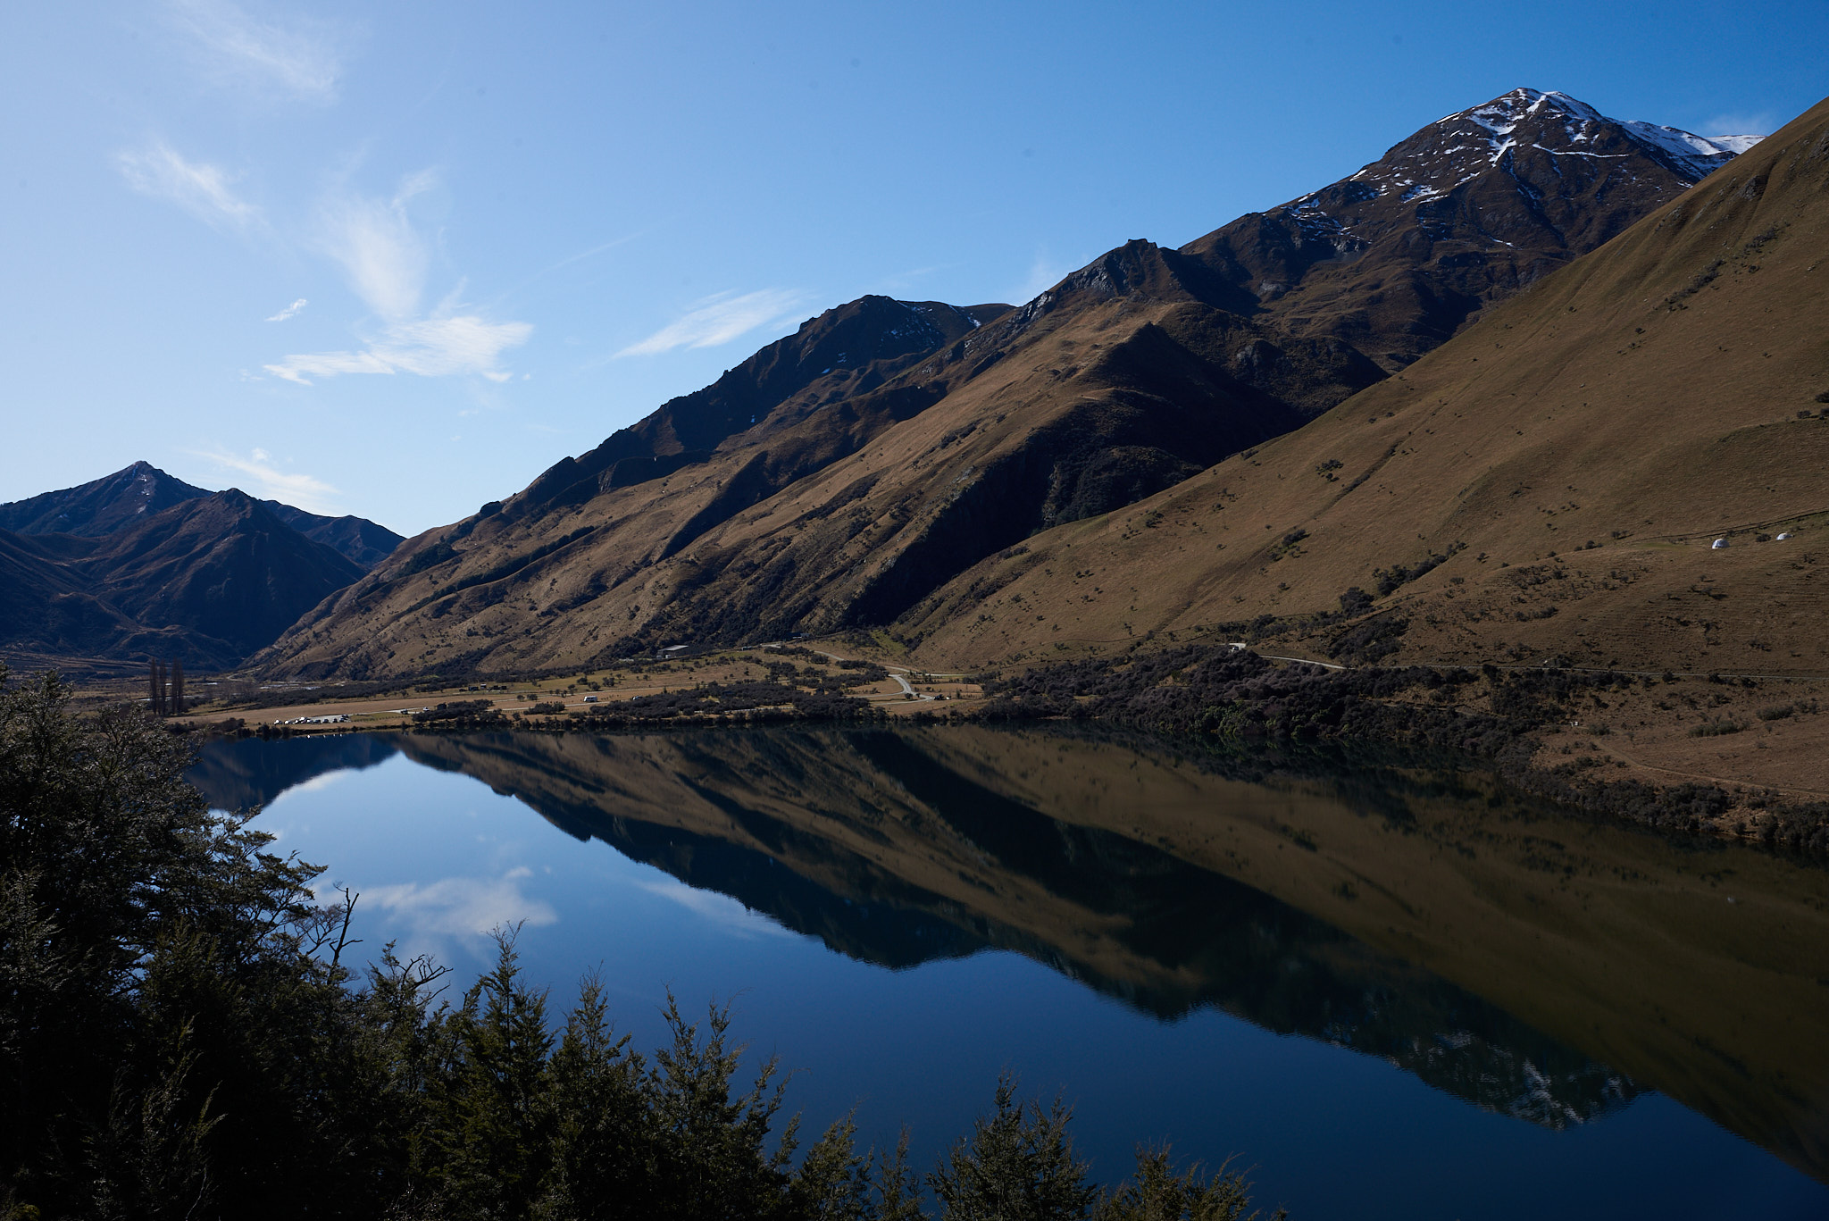
{"type": "Polygon", "coordinates": [[[1401,368],[1483,302],[1606,243],[1758,139],[1626,123],[1567,93],[1518,88],[1185,249],[1260,308],[1291,302],[1291,326],[1353,342],[1383,326],[1390,300],[1427,282],[1427,324],[1379,331],[1388,350],[1368,350],[1401,368]],[[1383,276],[1368,271],[1377,265],[1383,276]],[[1381,287],[1342,287],[1364,284],[1381,287]]]}

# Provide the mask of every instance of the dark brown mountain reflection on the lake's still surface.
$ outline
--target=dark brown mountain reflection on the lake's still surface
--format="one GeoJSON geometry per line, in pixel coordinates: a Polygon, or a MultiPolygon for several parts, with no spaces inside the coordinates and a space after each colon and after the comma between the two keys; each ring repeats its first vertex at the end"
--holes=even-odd
{"type": "Polygon", "coordinates": [[[1829,1177],[1825,888],[1769,855],[1394,760],[977,727],[243,741],[194,778],[249,805],[395,747],[854,959],[1015,950],[1160,1020],[1218,1007],[1546,1128],[1655,1087],[1829,1177]],[[1690,906],[1714,915],[1736,873],[1765,875],[1745,888],[1770,912],[1723,935],[1690,906]],[[1749,952],[1761,917],[1798,961],[1749,952]]]}

